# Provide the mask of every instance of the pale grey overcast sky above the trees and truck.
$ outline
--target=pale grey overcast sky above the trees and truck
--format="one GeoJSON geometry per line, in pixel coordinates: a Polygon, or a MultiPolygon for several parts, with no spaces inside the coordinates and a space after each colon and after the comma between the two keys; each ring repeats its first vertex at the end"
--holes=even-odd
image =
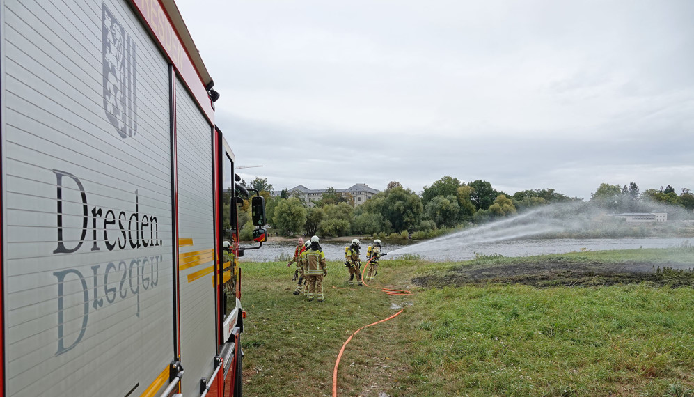
{"type": "Polygon", "coordinates": [[[246,180],[694,190],[694,1],[177,3],[246,180]]]}

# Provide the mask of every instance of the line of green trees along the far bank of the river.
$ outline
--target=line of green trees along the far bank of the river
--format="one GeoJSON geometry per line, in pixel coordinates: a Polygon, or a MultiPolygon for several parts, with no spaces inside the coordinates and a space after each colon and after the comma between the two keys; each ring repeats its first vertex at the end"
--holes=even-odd
{"type": "MultiPolygon", "coordinates": [[[[255,178],[246,187],[258,189],[265,196],[269,225],[281,235],[372,235],[378,238],[431,238],[471,224],[482,224],[494,219],[510,217],[519,212],[551,203],[583,202],[583,198],[569,197],[555,189],[529,189],[507,194],[494,189],[486,180],[461,182],[443,176],[419,194],[391,181],[386,190],[379,192],[362,205],[355,206],[349,194],[340,194],[332,187],[326,189],[320,201],[313,206],[299,194],[284,189],[272,196],[273,186],[267,178],[255,178]]],[[[640,192],[635,182],[629,185],[602,183],[591,194],[589,205],[606,212],[649,212],[653,203],[665,203],[694,210],[694,194],[682,188],[677,194],[668,185],[660,189],[640,192]]],[[[249,205],[239,210],[241,238],[251,235],[253,226],[249,205]]]]}

